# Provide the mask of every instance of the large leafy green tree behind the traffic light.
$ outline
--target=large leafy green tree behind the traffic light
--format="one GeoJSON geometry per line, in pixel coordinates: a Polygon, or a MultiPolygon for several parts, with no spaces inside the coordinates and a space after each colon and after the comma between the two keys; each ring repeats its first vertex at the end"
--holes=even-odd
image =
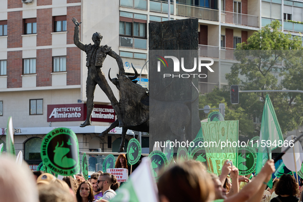
{"type": "MultiPolygon", "coordinates": [[[[237,45],[234,54],[239,63],[226,74],[229,85],[239,85],[241,90],[303,90],[301,38],[284,34],[279,27],[280,23],[273,21],[254,32],[247,43],[237,45]]],[[[243,109],[251,122],[253,117],[261,118],[266,94],[284,134],[302,125],[300,93],[240,93],[240,103],[234,109],[243,109]]],[[[259,128],[256,130],[258,133],[259,128]]]]}

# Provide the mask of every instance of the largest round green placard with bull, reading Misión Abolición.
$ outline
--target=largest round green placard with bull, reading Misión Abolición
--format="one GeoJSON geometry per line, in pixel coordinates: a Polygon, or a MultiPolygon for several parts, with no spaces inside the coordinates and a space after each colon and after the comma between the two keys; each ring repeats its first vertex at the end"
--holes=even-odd
{"type": "Polygon", "coordinates": [[[70,176],[80,170],[79,147],[76,134],[68,128],[49,132],[41,144],[44,165],[59,175],[70,176]]]}

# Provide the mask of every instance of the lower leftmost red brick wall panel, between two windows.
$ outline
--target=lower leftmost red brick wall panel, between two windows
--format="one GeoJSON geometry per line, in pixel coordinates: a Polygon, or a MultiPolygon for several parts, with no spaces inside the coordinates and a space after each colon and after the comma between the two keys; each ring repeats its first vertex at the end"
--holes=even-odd
{"type": "Polygon", "coordinates": [[[21,88],[23,74],[22,51],[7,52],[7,88],[21,88]]]}

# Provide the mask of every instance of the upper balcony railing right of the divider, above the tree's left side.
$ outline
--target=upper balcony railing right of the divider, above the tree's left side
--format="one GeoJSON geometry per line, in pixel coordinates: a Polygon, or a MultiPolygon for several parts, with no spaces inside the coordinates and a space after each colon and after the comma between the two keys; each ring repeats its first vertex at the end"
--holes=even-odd
{"type": "Polygon", "coordinates": [[[221,11],[221,23],[259,27],[258,16],[221,11]]]}

